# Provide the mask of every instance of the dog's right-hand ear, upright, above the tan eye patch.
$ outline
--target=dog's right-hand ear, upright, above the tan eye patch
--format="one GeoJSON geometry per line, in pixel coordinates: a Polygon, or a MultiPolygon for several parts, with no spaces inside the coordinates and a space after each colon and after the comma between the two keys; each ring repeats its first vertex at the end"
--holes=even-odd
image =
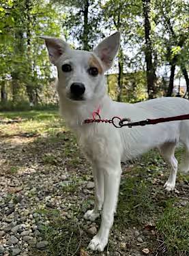
{"type": "Polygon", "coordinates": [[[120,33],[117,31],[113,35],[105,38],[98,46],[94,49],[94,52],[101,59],[105,71],[111,68],[113,59],[117,54],[120,44],[120,33]]]}

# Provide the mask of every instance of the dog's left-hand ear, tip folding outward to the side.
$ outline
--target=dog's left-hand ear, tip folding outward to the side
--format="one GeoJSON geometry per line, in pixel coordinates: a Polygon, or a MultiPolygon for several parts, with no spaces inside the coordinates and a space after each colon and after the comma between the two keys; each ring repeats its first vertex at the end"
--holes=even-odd
{"type": "Polygon", "coordinates": [[[47,36],[40,36],[44,39],[46,47],[48,49],[48,55],[50,62],[55,64],[57,59],[65,53],[66,49],[69,48],[69,45],[59,38],[49,38],[47,36]]]}

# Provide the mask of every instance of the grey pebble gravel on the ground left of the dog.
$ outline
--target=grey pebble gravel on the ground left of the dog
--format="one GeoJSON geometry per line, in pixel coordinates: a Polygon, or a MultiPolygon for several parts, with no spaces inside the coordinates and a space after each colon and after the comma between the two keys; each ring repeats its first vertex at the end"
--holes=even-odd
{"type": "MultiPolygon", "coordinates": [[[[56,142],[56,147],[49,142],[45,148],[44,141],[33,143],[34,139],[16,135],[3,137],[0,142],[0,255],[3,256],[31,255],[32,248],[45,251],[48,242],[44,240],[44,229],[49,224],[48,217],[52,217],[48,211],[61,212],[61,217],[69,220],[73,217],[72,205],[83,200],[69,191],[76,188],[80,171],[70,168],[68,173],[66,161],[60,156],[64,141],[69,139],[56,142]],[[55,162],[50,158],[53,154],[55,162]],[[68,189],[64,191],[64,187],[68,189]]],[[[82,191],[82,197],[93,194],[94,184],[90,179],[91,176],[80,180],[78,192],[82,191]]],[[[89,226],[89,233],[96,233],[96,227],[89,226]]]]}

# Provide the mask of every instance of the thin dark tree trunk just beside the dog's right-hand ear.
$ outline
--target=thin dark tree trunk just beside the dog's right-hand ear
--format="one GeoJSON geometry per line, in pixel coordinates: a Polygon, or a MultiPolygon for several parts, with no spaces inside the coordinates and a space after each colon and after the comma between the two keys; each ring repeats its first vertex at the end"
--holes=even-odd
{"type": "Polygon", "coordinates": [[[121,46],[119,48],[119,55],[118,55],[118,66],[119,66],[119,74],[118,74],[118,95],[117,95],[117,101],[121,102],[122,100],[122,91],[123,91],[123,51],[121,49],[121,46]]]}

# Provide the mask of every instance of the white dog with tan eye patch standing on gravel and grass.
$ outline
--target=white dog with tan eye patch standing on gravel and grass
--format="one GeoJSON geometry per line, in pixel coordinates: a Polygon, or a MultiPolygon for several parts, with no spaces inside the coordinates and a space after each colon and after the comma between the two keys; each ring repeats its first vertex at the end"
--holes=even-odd
{"type": "Polygon", "coordinates": [[[129,160],[147,150],[158,147],[171,165],[166,190],[175,188],[177,160],[175,146],[186,146],[183,171],[189,171],[189,121],[115,128],[112,124],[91,123],[84,120],[100,109],[103,119],[114,116],[130,117],[132,121],[184,115],[189,113],[189,101],[181,98],[157,98],[136,104],[114,102],[106,94],[104,72],[111,68],[119,48],[119,32],[103,40],[93,52],[72,50],[58,38],[43,37],[50,61],[57,66],[57,91],[61,114],[78,137],[93,165],[96,203],[85,218],[94,221],[102,210],[98,234],[89,243],[91,250],[103,251],[113,225],[119,193],[121,160],[129,160]]]}

